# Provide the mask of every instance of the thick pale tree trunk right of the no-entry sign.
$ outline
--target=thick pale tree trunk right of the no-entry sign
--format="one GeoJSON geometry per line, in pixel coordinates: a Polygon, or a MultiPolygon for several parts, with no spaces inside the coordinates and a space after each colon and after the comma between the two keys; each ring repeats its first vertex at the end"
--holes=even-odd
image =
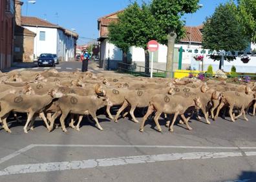
{"type": "Polygon", "coordinates": [[[166,62],[166,77],[173,77],[173,59],[174,59],[174,49],[175,49],[175,39],[177,35],[174,31],[169,31],[167,35],[167,62],[166,62]]]}

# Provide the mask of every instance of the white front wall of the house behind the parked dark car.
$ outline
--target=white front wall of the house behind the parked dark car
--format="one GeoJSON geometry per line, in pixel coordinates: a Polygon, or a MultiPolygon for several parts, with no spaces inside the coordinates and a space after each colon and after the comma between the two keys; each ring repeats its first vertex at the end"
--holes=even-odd
{"type": "Polygon", "coordinates": [[[57,54],[57,28],[43,28],[24,26],[28,30],[36,33],[34,39],[34,55],[40,56],[43,53],[57,54]],[[45,32],[45,41],[40,41],[40,32],[45,32]]]}

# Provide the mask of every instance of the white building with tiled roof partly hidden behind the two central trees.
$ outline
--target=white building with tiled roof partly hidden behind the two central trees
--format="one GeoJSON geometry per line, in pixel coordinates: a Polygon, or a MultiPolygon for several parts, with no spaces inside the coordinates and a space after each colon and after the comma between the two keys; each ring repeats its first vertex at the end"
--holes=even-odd
{"type": "MultiPolygon", "coordinates": [[[[103,68],[116,69],[120,61],[122,61],[122,50],[107,41],[108,26],[113,21],[118,21],[118,14],[123,10],[105,15],[98,19],[98,30],[100,41],[100,63],[103,68]]],[[[201,49],[202,48],[202,25],[186,26],[186,35],[175,45],[175,66],[178,67],[178,49],[182,46],[184,49],[201,49]]],[[[145,65],[145,54],[143,48],[131,47],[129,50],[131,61],[137,65],[145,65]]],[[[167,46],[160,45],[159,50],[154,54],[154,62],[156,68],[165,70],[167,57],[167,46]]],[[[189,64],[184,64],[188,67],[189,64]]]]}

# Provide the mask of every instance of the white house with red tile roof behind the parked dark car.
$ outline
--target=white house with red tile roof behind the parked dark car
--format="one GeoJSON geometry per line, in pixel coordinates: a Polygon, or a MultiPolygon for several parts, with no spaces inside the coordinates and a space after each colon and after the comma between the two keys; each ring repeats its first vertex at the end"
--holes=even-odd
{"type": "MultiPolygon", "coordinates": [[[[16,5],[16,8],[21,10],[22,3],[18,5],[16,5]]],[[[72,32],[44,19],[39,19],[38,17],[21,16],[21,11],[19,11],[19,21],[20,26],[26,32],[29,31],[35,34],[33,45],[34,54],[32,56],[33,59],[30,59],[30,61],[34,61],[34,58],[39,57],[43,53],[57,54],[59,61],[75,59],[76,41],[78,39],[76,32],[72,32]]],[[[20,46],[22,47],[23,45],[21,44],[20,46]]],[[[21,48],[16,48],[16,50],[21,50],[21,48]]]]}

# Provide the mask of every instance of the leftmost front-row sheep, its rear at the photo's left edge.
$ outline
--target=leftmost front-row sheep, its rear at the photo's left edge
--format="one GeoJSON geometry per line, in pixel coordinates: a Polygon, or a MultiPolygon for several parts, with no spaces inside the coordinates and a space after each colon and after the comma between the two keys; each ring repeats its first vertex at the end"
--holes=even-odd
{"type": "MultiPolygon", "coordinates": [[[[0,118],[6,119],[11,111],[14,112],[25,112],[28,113],[28,118],[26,125],[24,126],[23,130],[25,133],[28,133],[27,126],[34,117],[34,114],[38,113],[39,116],[43,118],[47,129],[50,131],[50,126],[47,123],[47,119],[45,114],[43,113],[43,108],[49,105],[52,102],[53,98],[58,98],[63,96],[61,92],[56,92],[56,90],[49,90],[47,94],[43,96],[33,95],[33,96],[26,96],[26,95],[19,95],[19,94],[7,94],[5,97],[0,99],[1,103],[1,112],[0,118]]],[[[4,120],[3,120],[4,122],[4,120]]],[[[6,125],[6,123],[4,123],[6,125]]],[[[7,130],[10,129],[7,126],[7,130]]]]}

